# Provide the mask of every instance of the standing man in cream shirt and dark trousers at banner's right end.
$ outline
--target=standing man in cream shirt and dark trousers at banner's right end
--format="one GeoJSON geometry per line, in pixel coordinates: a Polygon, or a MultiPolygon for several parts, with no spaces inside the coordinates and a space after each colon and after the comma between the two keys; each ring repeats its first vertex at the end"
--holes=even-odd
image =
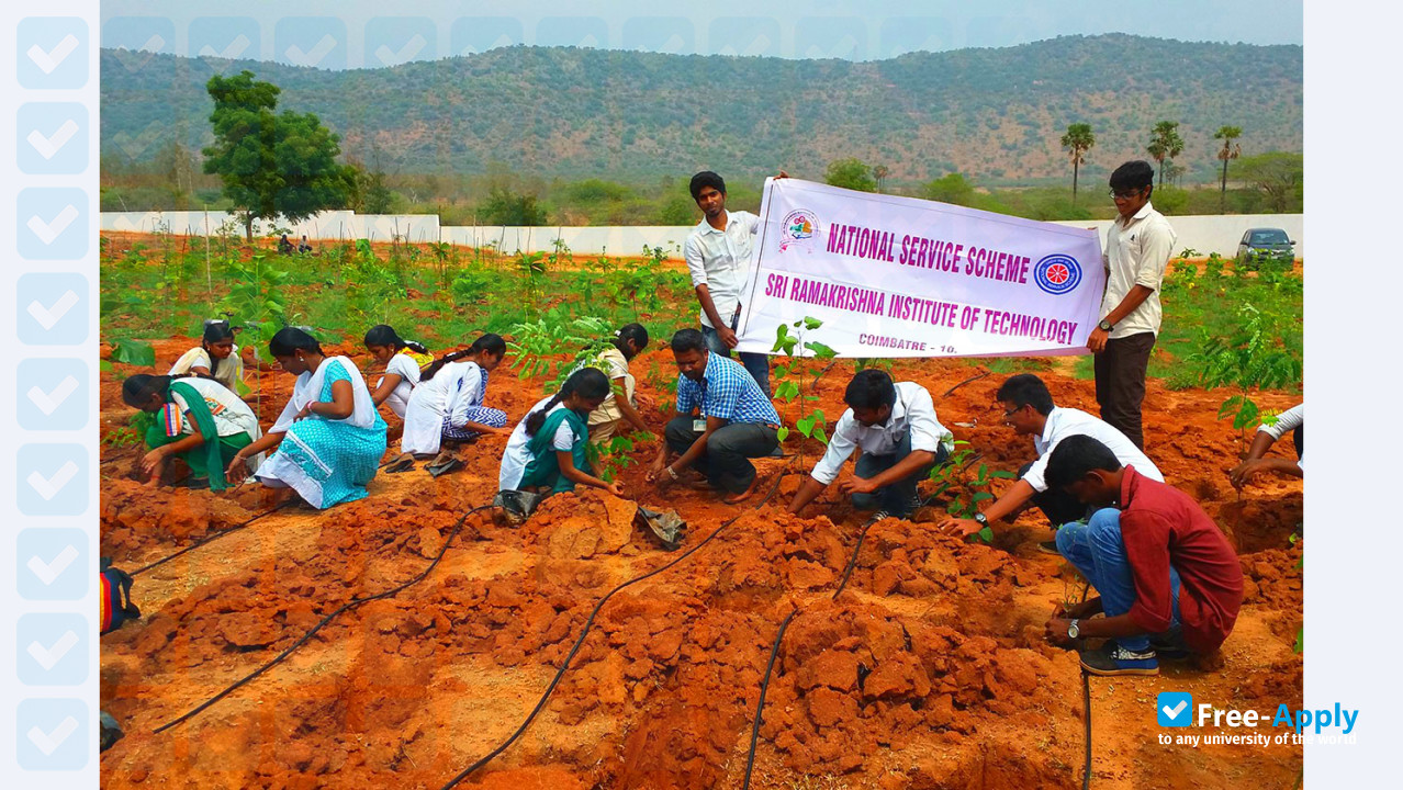
{"type": "Polygon", "coordinates": [[[1141,403],[1145,370],[1163,312],[1159,303],[1164,267],[1174,248],[1174,229],[1150,205],[1155,168],[1127,161],[1111,173],[1118,216],[1106,233],[1106,296],[1101,320],[1086,345],[1096,355],[1096,403],[1101,420],[1145,449],[1141,403]]]}

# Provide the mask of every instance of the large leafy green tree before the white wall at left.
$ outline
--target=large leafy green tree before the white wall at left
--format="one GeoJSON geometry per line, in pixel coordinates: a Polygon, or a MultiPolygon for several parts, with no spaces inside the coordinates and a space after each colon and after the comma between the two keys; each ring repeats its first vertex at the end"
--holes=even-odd
{"type": "Polygon", "coordinates": [[[205,88],[215,100],[209,116],[215,143],[202,152],[203,170],[223,181],[250,241],[255,219],[297,223],[347,203],[355,175],[337,164],[340,138],[321,119],[310,112],[275,114],[281,88],[255,81],[248,70],[215,74],[205,88]]]}

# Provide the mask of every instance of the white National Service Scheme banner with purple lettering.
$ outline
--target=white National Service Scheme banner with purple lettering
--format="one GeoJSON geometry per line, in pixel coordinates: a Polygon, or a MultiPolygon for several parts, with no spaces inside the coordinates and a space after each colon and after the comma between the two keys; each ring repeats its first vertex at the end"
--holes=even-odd
{"type": "Polygon", "coordinates": [[[811,316],[839,356],[1083,354],[1104,286],[1094,230],[770,178],[739,351],[811,316]]]}

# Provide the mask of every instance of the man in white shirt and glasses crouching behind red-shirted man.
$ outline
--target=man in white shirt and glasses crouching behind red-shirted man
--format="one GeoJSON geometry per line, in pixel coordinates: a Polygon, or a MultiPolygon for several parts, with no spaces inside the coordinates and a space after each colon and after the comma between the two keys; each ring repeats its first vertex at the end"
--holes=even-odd
{"type": "MultiPolygon", "coordinates": [[[[1155,463],[1132,445],[1125,434],[1079,408],[1055,406],[1047,384],[1033,373],[1009,376],[993,397],[1003,410],[1003,421],[1012,425],[1016,434],[1033,436],[1033,449],[1038,457],[1023,464],[1019,481],[974,518],[946,519],[940,530],[947,535],[974,535],[989,523],[1016,516],[1028,502],[1042,511],[1052,529],[1086,518],[1086,505],[1047,481],[1048,453],[1069,436],[1092,436],[1110,448],[1122,466],[1134,466],[1142,477],[1156,483],[1164,481],[1155,463]]],[[[1051,540],[1038,547],[1056,553],[1056,543],[1051,540]]]]}

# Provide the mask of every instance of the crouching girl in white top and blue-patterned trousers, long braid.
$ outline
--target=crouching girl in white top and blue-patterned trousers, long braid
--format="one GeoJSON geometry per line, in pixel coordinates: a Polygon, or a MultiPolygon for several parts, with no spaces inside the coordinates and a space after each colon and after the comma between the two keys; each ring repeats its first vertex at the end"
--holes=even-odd
{"type": "Polygon", "coordinates": [[[441,449],[445,441],[466,442],[480,434],[505,434],[506,413],[483,406],[488,373],[505,355],[506,341],[488,333],[474,340],[467,351],[455,351],[425,368],[404,410],[400,457],[384,470],[407,471],[415,456],[436,453],[428,463],[429,471],[450,471],[462,462],[448,448],[441,449]]]}

